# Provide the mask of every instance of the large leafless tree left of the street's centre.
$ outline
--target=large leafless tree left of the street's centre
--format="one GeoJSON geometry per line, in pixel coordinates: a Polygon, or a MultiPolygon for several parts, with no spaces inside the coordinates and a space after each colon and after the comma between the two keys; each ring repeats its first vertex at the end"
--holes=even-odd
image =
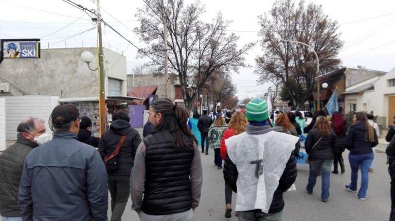
{"type": "Polygon", "coordinates": [[[191,109],[192,101],[201,94],[208,77],[221,69],[225,73],[237,72],[246,67],[244,53],[254,44],[237,48],[239,39],[226,29],[230,22],[224,21],[218,13],[212,23],[204,23],[201,16],[205,12],[197,1],[184,5],[183,0],[143,0],[145,6],[137,11],[140,27],[135,29],[142,42],[149,46],[140,51],[140,55],[149,55],[155,62],[163,64],[164,37],[162,33],[163,17],[168,30],[169,71],[178,75],[184,102],[191,109]],[[191,79],[196,76],[196,82],[191,79]],[[189,90],[192,85],[196,90],[189,90]]]}

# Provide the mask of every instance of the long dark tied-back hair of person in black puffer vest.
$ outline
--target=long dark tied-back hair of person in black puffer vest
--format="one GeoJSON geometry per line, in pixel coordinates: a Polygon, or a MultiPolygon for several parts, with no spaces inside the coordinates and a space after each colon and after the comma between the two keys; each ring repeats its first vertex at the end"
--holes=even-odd
{"type": "Polygon", "coordinates": [[[170,99],[154,99],[151,103],[151,108],[155,113],[162,114],[162,121],[152,129],[152,133],[169,130],[171,135],[173,135],[173,145],[175,148],[191,147],[186,142],[185,135],[197,144],[195,136],[188,129],[188,111],[185,108],[174,105],[170,99]]]}

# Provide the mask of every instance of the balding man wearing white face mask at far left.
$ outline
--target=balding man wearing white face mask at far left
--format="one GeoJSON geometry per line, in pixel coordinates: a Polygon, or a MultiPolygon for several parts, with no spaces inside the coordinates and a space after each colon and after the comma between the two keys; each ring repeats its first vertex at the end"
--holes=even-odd
{"type": "Polygon", "coordinates": [[[0,215],[3,221],[22,221],[18,207],[18,189],[27,154],[46,142],[44,121],[38,118],[22,120],[16,131],[15,144],[0,154],[0,215]]]}

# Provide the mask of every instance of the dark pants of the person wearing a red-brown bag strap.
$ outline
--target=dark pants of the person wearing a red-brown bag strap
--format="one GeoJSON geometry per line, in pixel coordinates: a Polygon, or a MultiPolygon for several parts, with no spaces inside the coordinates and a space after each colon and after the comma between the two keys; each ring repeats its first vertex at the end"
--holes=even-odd
{"type": "Polygon", "coordinates": [[[109,176],[111,221],[120,221],[129,199],[129,176],[109,176]]]}

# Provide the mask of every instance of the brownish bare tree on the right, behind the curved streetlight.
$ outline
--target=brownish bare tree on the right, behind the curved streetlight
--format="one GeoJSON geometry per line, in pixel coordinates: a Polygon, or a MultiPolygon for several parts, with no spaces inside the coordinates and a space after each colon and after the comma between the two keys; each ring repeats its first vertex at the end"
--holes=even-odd
{"type": "Polygon", "coordinates": [[[293,104],[303,106],[314,90],[316,76],[314,53],[308,47],[282,42],[281,39],[310,45],[319,57],[320,71],[338,67],[336,58],[343,46],[338,25],[322,12],[321,6],[304,1],[279,0],[270,13],[260,16],[263,55],[256,58],[261,83],[279,78],[293,104]]]}

